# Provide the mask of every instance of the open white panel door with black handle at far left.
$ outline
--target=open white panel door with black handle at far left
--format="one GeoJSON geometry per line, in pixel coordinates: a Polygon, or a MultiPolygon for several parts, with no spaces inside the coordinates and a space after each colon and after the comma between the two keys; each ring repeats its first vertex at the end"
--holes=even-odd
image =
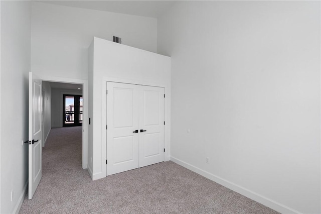
{"type": "Polygon", "coordinates": [[[29,72],[29,193],[34,195],[42,176],[42,81],[29,72]]]}

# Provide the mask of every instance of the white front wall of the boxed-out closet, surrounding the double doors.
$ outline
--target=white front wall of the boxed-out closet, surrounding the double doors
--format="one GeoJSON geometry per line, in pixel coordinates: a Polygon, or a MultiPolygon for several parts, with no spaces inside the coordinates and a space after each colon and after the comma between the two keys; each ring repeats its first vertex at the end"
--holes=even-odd
{"type": "MultiPolygon", "coordinates": [[[[91,48],[89,49],[91,52],[91,48]]],[[[92,145],[93,179],[106,176],[106,80],[165,87],[165,159],[170,156],[171,59],[145,50],[94,38],[92,145]]],[[[90,59],[91,61],[91,59],[90,59]]],[[[90,77],[91,78],[91,77],[90,77]]],[[[89,90],[90,91],[90,90],[89,90]]],[[[88,141],[90,144],[90,140],[88,141]]],[[[91,157],[88,156],[88,160],[91,157]]]]}

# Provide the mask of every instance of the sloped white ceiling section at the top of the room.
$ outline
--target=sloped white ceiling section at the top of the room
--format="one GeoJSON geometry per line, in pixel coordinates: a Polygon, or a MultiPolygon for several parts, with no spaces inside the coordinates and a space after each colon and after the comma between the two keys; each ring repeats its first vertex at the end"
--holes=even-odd
{"type": "Polygon", "coordinates": [[[176,1],[37,1],[98,11],[157,18],[176,1]]]}

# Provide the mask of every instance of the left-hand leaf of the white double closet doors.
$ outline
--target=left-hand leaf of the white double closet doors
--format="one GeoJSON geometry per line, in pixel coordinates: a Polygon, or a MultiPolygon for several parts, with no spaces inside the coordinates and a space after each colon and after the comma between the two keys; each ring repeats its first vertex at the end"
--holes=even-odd
{"type": "Polygon", "coordinates": [[[107,175],[138,168],[138,87],[107,82],[107,175]]]}

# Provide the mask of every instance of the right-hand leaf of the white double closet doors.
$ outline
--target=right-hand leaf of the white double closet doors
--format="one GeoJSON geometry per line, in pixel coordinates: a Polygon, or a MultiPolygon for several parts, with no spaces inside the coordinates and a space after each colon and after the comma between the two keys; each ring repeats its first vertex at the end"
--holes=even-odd
{"type": "Polygon", "coordinates": [[[139,167],[164,161],[164,88],[140,86],[139,167]]]}

